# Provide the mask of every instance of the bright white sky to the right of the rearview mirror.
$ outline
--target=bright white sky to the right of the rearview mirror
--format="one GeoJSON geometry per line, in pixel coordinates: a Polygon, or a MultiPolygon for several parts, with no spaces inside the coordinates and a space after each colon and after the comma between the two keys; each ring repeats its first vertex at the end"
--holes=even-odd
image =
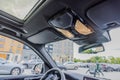
{"type": "Polygon", "coordinates": [[[120,28],[113,29],[109,33],[111,41],[104,43],[105,51],[97,55],[120,57],[120,28]]]}

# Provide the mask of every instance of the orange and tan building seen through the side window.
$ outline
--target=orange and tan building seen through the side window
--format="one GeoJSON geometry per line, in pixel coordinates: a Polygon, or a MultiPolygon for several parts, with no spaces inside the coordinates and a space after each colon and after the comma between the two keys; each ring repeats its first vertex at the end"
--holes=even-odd
{"type": "Polygon", "coordinates": [[[0,35],[0,58],[9,61],[20,61],[22,50],[22,43],[0,35]]]}

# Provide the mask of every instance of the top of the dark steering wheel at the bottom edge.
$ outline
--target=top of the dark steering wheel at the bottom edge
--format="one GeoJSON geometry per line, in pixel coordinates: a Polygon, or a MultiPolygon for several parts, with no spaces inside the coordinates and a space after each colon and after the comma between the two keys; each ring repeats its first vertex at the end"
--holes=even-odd
{"type": "Polygon", "coordinates": [[[64,73],[59,68],[48,70],[40,80],[66,80],[64,73]]]}

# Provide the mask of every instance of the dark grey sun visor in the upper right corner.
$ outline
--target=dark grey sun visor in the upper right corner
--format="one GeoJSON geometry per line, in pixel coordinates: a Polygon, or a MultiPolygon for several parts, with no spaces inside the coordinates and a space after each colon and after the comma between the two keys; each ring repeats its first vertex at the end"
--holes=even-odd
{"type": "Polygon", "coordinates": [[[102,30],[120,26],[120,0],[104,0],[91,7],[87,16],[102,30]]]}

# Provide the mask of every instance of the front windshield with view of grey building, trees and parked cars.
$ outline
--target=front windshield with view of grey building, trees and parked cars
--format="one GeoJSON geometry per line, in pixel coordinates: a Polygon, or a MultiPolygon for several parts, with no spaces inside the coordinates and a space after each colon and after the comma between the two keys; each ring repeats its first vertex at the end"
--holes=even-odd
{"type": "Polygon", "coordinates": [[[110,32],[111,41],[104,43],[105,51],[87,54],[79,52],[78,45],[70,40],[49,43],[45,46],[53,60],[62,70],[111,80],[120,79],[120,28],[110,32]],[[61,67],[62,66],[62,67],[61,67]]]}

